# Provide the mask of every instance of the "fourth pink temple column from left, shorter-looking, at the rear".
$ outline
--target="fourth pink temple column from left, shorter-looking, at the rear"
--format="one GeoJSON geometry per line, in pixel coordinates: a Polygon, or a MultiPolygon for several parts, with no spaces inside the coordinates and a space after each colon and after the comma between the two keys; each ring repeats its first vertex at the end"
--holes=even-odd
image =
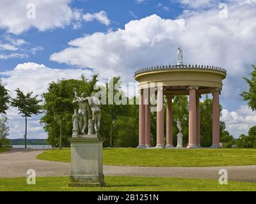
{"type": "Polygon", "coordinates": [[[166,96],[166,147],[172,144],[172,96],[166,96]]]}

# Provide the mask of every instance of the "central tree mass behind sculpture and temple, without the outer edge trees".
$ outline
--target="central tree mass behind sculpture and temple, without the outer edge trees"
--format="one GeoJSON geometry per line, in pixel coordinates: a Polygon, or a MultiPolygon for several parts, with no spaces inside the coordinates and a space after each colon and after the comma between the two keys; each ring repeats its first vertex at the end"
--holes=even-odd
{"type": "MultiPolygon", "coordinates": [[[[102,120],[100,126],[100,135],[105,139],[104,147],[137,147],[138,145],[138,105],[135,104],[136,98],[133,98],[134,104],[129,105],[128,100],[122,92],[120,77],[112,79],[114,97],[119,94],[123,98],[123,104],[102,105],[102,120]],[[121,93],[121,94],[120,94],[121,93]],[[124,99],[125,98],[125,99],[124,99]]],[[[44,101],[44,117],[41,122],[44,124],[44,130],[48,133],[47,142],[52,147],[69,147],[68,138],[72,135],[72,115],[77,104],[72,104],[74,91],[80,95],[82,92],[90,96],[93,87],[97,84],[98,75],[94,75],[90,80],[81,77],[81,80],[58,80],[51,82],[47,92],[42,94],[44,101]],[[61,138],[61,139],[60,139],[61,138]]],[[[105,84],[102,89],[106,90],[108,96],[109,86],[105,84]]],[[[108,104],[109,98],[107,98],[108,104]]],[[[111,99],[113,100],[113,99],[111,99]]],[[[130,99],[131,101],[131,99],[130,99]]],[[[164,105],[166,110],[166,106],[164,105]]],[[[212,145],[212,99],[208,97],[200,103],[200,132],[202,147],[212,145]]],[[[165,111],[166,112],[166,111],[165,111]]],[[[166,117],[164,122],[166,123],[166,117]]],[[[183,143],[188,143],[188,98],[186,96],[175,96],[173,99],[173,119],[179,118],[183,128],[183,143]]],[[[156,112],[151,112],[151,144],[156,145],[156,112]]],[[[225,129],[225,123],[220,124],[221,140],[227,147],[234,144],[234,138],[225,129]]],[[[177,144],[177,133],[179,133],[175,122],[173,122],[173,145],[177,144]]]]}

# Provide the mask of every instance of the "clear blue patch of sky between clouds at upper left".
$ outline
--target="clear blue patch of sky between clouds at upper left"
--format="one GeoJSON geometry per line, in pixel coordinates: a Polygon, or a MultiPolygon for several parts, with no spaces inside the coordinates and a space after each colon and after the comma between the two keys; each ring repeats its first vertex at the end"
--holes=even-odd
{"type": "MultiPolygon", "coordinates": [[[[101,10],[108,13],[108,18],[111,19],[111,25],[106,26],[100,22],[86,22],[81,25],[80,29],[73,29],[72,25],[68,25],[63,29],[52,29],[46,32],[40,32],[37,29],[29,29],[29,31],[19,34],[19,38],[31,43],[31,45],[43,47],[44,51],[37,52],[36,55],[29,55],[25,59],[8,59],[1,60],[0,71],[13,69],[17,64],[33,61],[42,63],[49,67],[67,68],[66,64],[60,64],[49,61],[49,56],[67,47],[68,41],[79,38],[83,34],[92,34],[95,32],[108,32],[108,29],[124,29],[127,22],[147,17],[156,13],[163,18],[176,18],[182,13],[182,8],[178,3],[172,1],[153,1],[146,0],[143,3],[136,3],[136,0],[118,1],[118,0],[77,0],[72,1],[69,5],[72,8],[83,10],[84,13],[96,13],[101,10]],[[163,10],[159,3],[167,6],[169,10],[163,10]],[[132,16],[132,15],[135,15],[132,16]]],[[[4,36],[6,31],[0,30],[0,36],[4,36]]],[[[13,34],[10,34],[11,36],[13,34]]],[[[14,36],[16,37],[16,36],[14,36]]],[[[72,66],[68,66],[70,68],[72,66]]]]}

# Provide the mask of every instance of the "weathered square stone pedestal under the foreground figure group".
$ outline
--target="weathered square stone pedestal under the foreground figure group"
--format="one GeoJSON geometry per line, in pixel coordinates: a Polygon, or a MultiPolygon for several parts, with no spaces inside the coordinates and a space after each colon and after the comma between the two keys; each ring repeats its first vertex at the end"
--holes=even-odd
{"type": "Polygon", "coordinates": [[[106,186],[102,165],[102,138],[77,135],[71,143],[71,175],[68,186],[106,186]]]}

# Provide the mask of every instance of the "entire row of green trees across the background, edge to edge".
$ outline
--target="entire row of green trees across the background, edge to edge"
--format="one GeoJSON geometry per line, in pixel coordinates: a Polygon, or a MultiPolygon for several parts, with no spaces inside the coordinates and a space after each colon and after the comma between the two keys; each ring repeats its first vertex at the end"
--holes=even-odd
{"type": "MultiPolygon", "coordinates": [[[[249,101],[248,106],[252,110],[256,110],[256,67],[253,66],[252,78],[247,78],[246,82],[249,85],[249,91],[243,92],[241,96],[244,100],[249,101]]],[[[44,125],[44,130],[48,134],[47,143],[52,147],[69,147],[68,138],[72,135],[72,115],[74,109],[78,108],[77,104],[72,104],[74,92],[78,95],[82,92],[86,96],[90,96],[98,82],[98,75],[93,75],[92,78],[81,79],[61,79],[56,82],[51,82],[48,89],[42,96],[35,96],[33,92],[23,93],[16,89],[16,98],[10,98],[8,91],[0,80],[0,147],[10,145],[7,140],[8,125],[7,118],[4,115],[9,106],[17,107],[22,117],[25,118],[27,126],[27,117],[33,114],[43,113],[41,123],[44,125]],[[40,98],[39,98],[40,97],[40,98]]],[[[106,98],[107,105],[102,105],[102,120],[100,126],[100,135],[105,139],[104,147],[137,147],[138,145],[138,105],[135,101],[138,98],[132,98],[134,103],[129,105],[127,98],[121,89],[120,77],[112,78],[111,82],[107,82],[101,88],[106,90],[108,96],[109,84],[115,87],[113,95],[118,98],[123,98],[122,104],[108,105],[109,98],[106,98]],[[121,94],[120,94],[121,93],[121,94]],[[127,102],[127,103],[126,103],[127,102]]],[[[111,99],[113,100],[113,99],[111,99]]],[[[164,99],[164,102],[165,99],[164,99]]],[[[164,114],[166,114],[166,103],[164,103],[164,114]]],[[[221,109],[221,108],[220,108],[221,109]]],[[[184,134],[183,143],[188,144],[188,97],[175,96],[173,98],[173,120],[177,118],[182,122],[182,133],[184,134]]],[[[156,112],[151,112],[151,145],[156,145],[156,112]]],[[[166,115],[164,115],[164,124],[166,127],[166,115]]],[[[256,147],[256,128],[251,128],[248,135],[241,135],[238,139],[234,139],[225,127],[225,122],[220,122],[220,142],[224,143],[225,147],[232,147],[236,143],[237,147],[256,147]]],[[[164,129],[166,133],[166,129],[164,129]]],[[[177,144],[177,133],[179,133],[176,123],[173,122],[173,145],[177,144]]],[[[200,102],[200,135],[201,146],[210,147],[212,144],[212,99],[208,96],[204,101],[200,102]]],[[[26,133],[25,133],[26,136],[26,133]]],[[[26,141],[26,140],[25,140],[26,141]]]]}

